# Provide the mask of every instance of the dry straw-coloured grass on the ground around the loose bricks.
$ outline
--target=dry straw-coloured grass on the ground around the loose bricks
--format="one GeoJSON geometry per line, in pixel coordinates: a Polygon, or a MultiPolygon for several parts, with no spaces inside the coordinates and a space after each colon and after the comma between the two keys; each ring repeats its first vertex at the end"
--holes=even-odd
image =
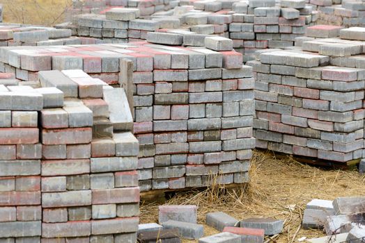
{"type": "MultiPolygon", "coordinates": [[[[296,242],[300,237],[321,237],[322,231],[300,228],[306,203],[311,199],[365,194],[365,177],[357,171],[325,170],[296,162],[289,156],[277,159],[273,153],[256,151],[247,187],[225,190],[217,185],[203,192],[180,193],[166,204],[195,204],[198,221],[207,212],[223,211],[244,219],[274,217],[283,219],[284,232],[273,242],[296,242]]],[[[157,204],[141,206],[141,222],[157,222],[157,204]]],[[[218,233],[209,226],[205,235],[218,233]]],[[[194,241],[185,241],[194,242],[194,241]]],[[[196,241],[197,242],[197,241],[196,241]]]]}

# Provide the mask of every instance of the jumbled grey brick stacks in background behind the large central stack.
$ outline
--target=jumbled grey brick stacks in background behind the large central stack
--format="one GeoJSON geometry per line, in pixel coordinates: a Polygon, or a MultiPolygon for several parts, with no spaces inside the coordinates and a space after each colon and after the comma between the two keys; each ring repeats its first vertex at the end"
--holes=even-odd
{"type": "MultiPolygon", "coordinates": [[[[71,28],[75,35],[98,37],[108,42],[131,42],[148,39],[150,32],[179,35],[184,46],[201,46],[206,35],[230,37],[244,62],[254,58],[254,51],[285,48],[306,26],[316,22],[317,12],[304,0],[271,1],[196,1],[156,12],[149,19],[141,8],[111,8],[104,14],[79,15],[71,28]]],[[[177,43],[176,43],[177,45],[177,43]]]]}

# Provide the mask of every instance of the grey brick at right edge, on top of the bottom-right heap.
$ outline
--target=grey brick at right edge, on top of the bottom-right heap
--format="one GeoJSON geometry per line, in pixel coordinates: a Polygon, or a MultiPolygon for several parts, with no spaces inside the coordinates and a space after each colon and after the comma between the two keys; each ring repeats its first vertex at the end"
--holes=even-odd
{"type": "Polygon", "coordinates": [[[338,197],[333,201],[336,215],[347,215],[365,211],[365,196],[338,197]]]}

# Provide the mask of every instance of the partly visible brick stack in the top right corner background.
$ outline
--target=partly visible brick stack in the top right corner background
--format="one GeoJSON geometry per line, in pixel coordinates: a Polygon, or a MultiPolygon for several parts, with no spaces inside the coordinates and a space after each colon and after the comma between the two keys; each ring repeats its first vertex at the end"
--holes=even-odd
{"type": "Polygon", "coordinates": [[[362,0],[348,0],[342,3],[341,0],[313,0],[313,6],[318,9],[318,24],[365,26],[365,2],[362,0]]]}

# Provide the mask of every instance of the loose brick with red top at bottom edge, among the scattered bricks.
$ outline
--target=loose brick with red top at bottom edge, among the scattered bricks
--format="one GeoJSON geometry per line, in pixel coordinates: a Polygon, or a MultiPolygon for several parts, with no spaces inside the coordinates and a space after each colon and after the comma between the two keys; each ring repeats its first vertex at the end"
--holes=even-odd
{"type": "Polygon", "coordinates": [[[223,232],[241,236],[241,243],[263,243],[265,231],[262,228],[224,227],[223,232]]]}

